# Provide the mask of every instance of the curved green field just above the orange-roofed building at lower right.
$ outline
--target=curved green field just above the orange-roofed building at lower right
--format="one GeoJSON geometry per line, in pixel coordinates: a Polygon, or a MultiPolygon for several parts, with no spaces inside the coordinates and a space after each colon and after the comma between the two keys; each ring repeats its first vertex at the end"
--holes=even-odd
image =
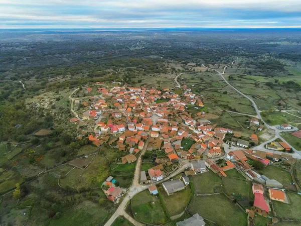
{"type": "Polygon", "coordinates": [[[269,179],[275,179],[281,184],[283,184],[285,189],[289,189],[291,191],[296,191],[296,188],[290,184],[292,182],[291,176],[289,172],[280,169],[276,166],[267,166],[260,170],[261,174],[267,176],[269,179]]]}

